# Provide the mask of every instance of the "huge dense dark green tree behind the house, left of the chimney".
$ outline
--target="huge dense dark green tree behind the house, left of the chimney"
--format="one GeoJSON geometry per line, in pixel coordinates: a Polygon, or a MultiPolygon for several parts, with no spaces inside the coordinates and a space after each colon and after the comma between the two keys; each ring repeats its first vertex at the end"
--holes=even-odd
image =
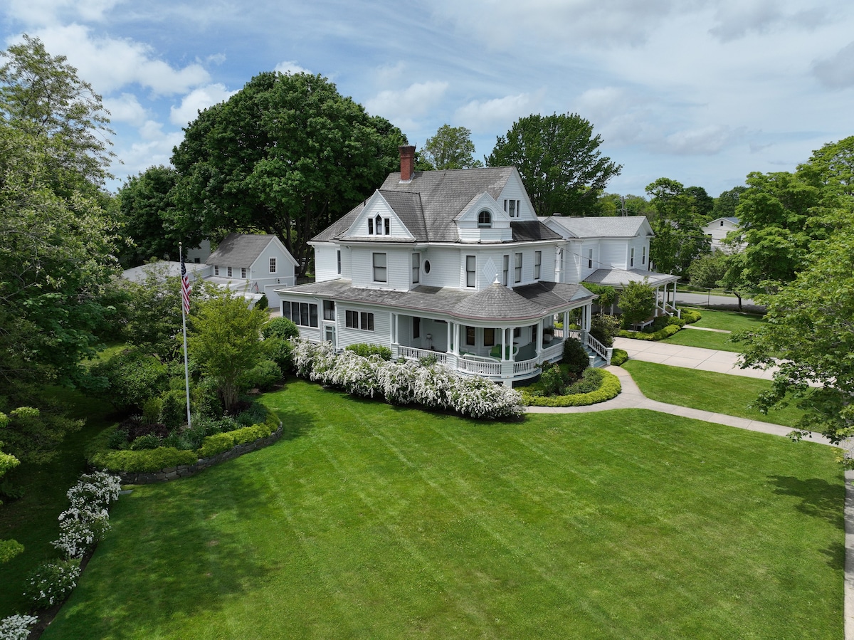
{"type": "Polygon", "coordinates": [[[406,137],[309,73],[260,73],[202,111],[173,152],[186,244],[264,231],[307,264],[307,241],[399,167],[406,137]]]}

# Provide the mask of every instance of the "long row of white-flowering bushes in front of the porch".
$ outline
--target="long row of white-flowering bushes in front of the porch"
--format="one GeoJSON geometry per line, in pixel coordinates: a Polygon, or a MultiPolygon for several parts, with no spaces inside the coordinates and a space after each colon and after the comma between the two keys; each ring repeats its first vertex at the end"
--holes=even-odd
{"type": "Polygon", "coordinates": [[[376,355],[364,357],[346,350],[336,354],[331,343],[298,340],[294,363],[301,377],[341,387],[354,396],[382,393],[392,404],[415,402],[481,419],[512,418],[523,413],[518,391],[433,362],[387,362],[376,355]]]}

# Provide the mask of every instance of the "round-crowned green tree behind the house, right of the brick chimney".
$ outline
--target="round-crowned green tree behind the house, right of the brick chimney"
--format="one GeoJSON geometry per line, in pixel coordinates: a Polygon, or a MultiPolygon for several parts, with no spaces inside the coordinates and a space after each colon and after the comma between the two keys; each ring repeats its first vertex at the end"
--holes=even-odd
{"type": "Polygon", "coordinates": [[[596,215],[600,193],[623,168],[602,156],[601,144],[578,114],[531,114],[497,138],[486,163],[518,169],[537,215],[596,215]]]}

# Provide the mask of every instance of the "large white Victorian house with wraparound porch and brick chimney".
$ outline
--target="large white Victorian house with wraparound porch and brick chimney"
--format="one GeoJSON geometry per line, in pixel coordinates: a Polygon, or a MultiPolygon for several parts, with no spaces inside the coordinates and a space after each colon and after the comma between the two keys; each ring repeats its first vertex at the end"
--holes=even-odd
{"type": "Polygon", "coordinates": [[[316,281],[279,289],[282,315],[338,349],[383,345],[506,385],[560,359],[556,321],[606,361],[588,336],[596,297],[561,273],[574,245],[537,219],[516,168],[413,172],[414,150],[312,239],[316,281]]]}

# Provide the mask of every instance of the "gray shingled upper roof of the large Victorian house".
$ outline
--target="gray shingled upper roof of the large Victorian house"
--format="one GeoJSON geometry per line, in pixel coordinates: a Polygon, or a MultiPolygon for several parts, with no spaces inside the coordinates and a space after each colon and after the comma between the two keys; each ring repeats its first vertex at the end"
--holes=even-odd
{"type": "MultiPolygon", "coordinates": [[[[395,214],[407,226],[416,242],[453,243],[459,241],[454,222],[459,212],[484,192],[498,199],[512,173],[513,167],[417,171],[412,180],[405,183],[401,183],[400,173],[389,173],[389,177],[379,188],[379,193],[395,210],[395,214]]],[[[377,238],[373,237],[357,238],[345,235],[365,208],[366,202],[357,205],[312,239],[317,242],[376,241],[377,238]]],[[[535,220],[511,224],[513,240],[516,242],[559,239],[558,234],[535,220]]],[[[395,238],[388,236],[383,236],[382,239],[383,242],[395,241],[395,238]]]]}

